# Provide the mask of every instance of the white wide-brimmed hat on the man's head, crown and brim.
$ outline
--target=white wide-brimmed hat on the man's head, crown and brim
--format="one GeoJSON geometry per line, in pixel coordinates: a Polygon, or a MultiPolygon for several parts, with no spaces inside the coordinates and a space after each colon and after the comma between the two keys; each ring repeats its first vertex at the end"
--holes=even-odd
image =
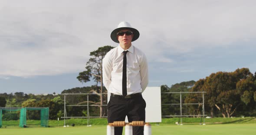
{"type": "Polygon", "coordinates": [[[133,38],[132,38],[131,42],[137,40],[140,36],[140,32],[137,29],[132,28],[130,23],[121,22],[118,24],[117,28],[111,32],[110,37],[114,42],[119,43],[116,35],[117,35],[117,32],[119,32],[119,30],[121,30],[121,29],[130,29],[133,32],[133,38]]]}

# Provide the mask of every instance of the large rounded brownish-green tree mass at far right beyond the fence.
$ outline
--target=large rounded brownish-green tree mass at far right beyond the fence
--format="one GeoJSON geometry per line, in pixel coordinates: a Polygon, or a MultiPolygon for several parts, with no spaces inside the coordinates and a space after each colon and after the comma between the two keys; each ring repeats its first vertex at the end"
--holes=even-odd
{"type": "MultiPolygon", "coordinates": [[[[234,72],[217,72],[198,80],[191,91],[207,92],[205,104],[211,108],[212,117],[214,107],[221,112],[223,117],[230,117],[241,105],[255,108],[253,107],[255,106],[253,93],[256,91],[254,78],[248,68],[238,68],[234,72]]],[[[193,98],[196,97],[189,98],[187,100],[193,102],[193,98]]]]}

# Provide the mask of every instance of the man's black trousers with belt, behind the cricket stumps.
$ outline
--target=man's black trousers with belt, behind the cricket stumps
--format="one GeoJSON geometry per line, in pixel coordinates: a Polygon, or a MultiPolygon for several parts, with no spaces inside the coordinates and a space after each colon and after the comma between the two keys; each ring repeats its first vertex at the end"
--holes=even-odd
{"type": "MultiPolygon", "coordinates": [[[[125,121],[125,116],[128,117],[128,122],[144,121],[145,122],[146,102],[142,95],[134,98],[125,99],[116,96],[110,96],[108,102],[108,123],[114,121],[125,121]]],[[[115,135],[122,135],[123,127],[115,127],[115,135]]],[[[143,126],[133,126],[133,135],[144,135],[143,126]]]]}

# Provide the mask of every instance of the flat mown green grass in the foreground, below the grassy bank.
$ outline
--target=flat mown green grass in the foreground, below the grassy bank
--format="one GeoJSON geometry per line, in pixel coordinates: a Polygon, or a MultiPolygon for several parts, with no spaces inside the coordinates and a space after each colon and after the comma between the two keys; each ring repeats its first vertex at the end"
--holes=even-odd
{"type": "MultiPolygon", "coordinates": [[[[152,125],[152,135],[255,135],[256,124],[152,125]]],[[[106,135],[106,125],[2,128],[1,135],[106,135]]],[[[123,134],[124,135],[124,134],[123,134]]]]}

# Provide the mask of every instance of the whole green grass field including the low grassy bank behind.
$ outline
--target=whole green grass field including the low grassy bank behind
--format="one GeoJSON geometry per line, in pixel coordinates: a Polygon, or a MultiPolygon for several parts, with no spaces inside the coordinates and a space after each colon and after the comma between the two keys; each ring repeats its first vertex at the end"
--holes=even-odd
{"type": "MultiPolygon", "coordinates": [[[[184,119],[184,125],[175,125],[178,119],[163,119],[160,125],[152,125],[152,135],[255,135],[256,118],[213,118],[206,119],[207,125],[199,125],[200,119],[184,119]],[[196,123],[194,123],[196,122],[196,123]]],[[[79,119],[71,119],[69,123],[77,122],[79,119]]],[[[30,123],[35,124],[34,121],[30,123]]],[[[29,126],[29,128],[19,128],[3,126],[0,135],[106,135],[105,119],[91,119],[92,126],[75,125],[74,127],[63,128],[63,123],[58,128],[57,121],[50,121],[49,128],[29,126]],[[94,124],[93,124],[94,122],[94,124]],[[98,123],[98,124],[97,124],[98,123]],[[103,124],[102,124],[103,123],[103,124]],[[52,125],[51,125],[52,124],[52,125]],[[57,125],[56,125],[57,124],[57,125]]],[[[6,122],[8,123],[8,122],[6,122]]],[[[78,124],[78,123],[77,123],[78,124]]],[[[124,134],[123,134],[124,135],[124,134]]]]}

